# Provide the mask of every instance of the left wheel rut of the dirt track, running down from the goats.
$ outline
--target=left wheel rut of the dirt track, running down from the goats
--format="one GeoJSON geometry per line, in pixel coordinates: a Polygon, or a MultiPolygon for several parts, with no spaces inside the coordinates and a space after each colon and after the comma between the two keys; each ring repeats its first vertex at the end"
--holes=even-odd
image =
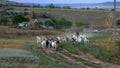
{"type": "Polygon", "coordinates": [[[55,58],[60,59],[61,61],[64,61],[64,62],[70,63],[70,64],[74,64],[74,65],[79,65],[79,66],[82,66],[82,68],[96,68],[96,67],[98,67],[96,65],[87,65],[87,64],[85,64],[85,63],[83,63],[81,61],[78,61],[77,59],[75,59],[75,58],[73,58],[71,56],[67,56],[67,55],[65,55],[63,53],[55,52],[55,51],[52,51],[50,49],[44,49],[44,51],[48,55],[52,55],[55,58]]]}

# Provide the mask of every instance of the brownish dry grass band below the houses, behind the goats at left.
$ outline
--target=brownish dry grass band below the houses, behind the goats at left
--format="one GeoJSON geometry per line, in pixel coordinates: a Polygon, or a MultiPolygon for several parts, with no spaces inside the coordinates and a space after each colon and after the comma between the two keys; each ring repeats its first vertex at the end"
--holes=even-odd
{"type": "Polygon", "coordinates": [[[57,35],[60,34],[57,30],[28,30],[19,28],[10,28],[6,26],[0,26],[1,38],[30,38],[36,35],[57,35]]]}

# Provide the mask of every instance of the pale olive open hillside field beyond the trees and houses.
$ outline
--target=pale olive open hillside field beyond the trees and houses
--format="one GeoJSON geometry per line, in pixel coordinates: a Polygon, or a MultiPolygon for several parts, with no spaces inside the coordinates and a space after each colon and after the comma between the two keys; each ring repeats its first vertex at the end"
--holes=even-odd
{"type": "MultiPolygon", "coordinates": [[[[25,7],[15,7],[15,11],[24,11],[25,7]]],[[[107,10],[80,10],[80,9],[48,9],[48,8],[27,8],[28,12],[35,11],[38,14],[49,13],[55,18],[66,18],[70,21],[83,21],[85,23],[97,23],[103,25],[111,11],[107,10]]],[[[120,12],[117,12],[117,18],[120,12]]]]}

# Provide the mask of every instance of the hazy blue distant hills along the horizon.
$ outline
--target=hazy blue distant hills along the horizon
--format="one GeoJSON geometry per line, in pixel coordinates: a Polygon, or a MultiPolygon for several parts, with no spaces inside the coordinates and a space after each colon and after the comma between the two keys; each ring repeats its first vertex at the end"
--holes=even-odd
{"type": "MultiPolygon", "coordinates": [[[[36,3],[17,3],[9,0],[0,0],[0,4],[11,4],[11,5],[28,5],[28,6],[33,6],[33,5],[48,5],[48,4],[36,4],[36,3]]],[[[70,6],[72,8],[113,8],[114,2],[103,2],[103,3],[74,3],[74,4],[54,4],[56,6],[70,6]]],[[[117,8],[120,8],[120,2],[117,2],[117,8]]]]}

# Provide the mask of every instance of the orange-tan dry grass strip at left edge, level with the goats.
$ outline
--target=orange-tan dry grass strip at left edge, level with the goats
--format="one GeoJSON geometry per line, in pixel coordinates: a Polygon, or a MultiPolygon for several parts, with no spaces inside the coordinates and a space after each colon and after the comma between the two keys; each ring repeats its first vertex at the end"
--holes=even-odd
{"type": "Polygon", "coordinates": [[[0,48],[21,48],[24,43],[35,43],[33,40],[0,40],[0,48]]]}

